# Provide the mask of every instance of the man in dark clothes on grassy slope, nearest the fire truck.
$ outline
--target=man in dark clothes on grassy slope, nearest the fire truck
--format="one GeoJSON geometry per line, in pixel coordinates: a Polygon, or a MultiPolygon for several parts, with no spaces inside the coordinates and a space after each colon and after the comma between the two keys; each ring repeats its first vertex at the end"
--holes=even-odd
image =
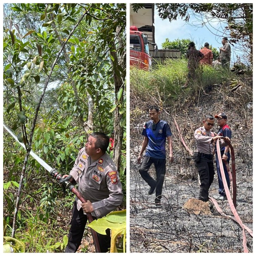
{"type": "Polygon", "coordinates": [[[195,48],[194,42],[190,42],[186,57],[188,59],[188,76],[187,82],[182,86],[182,88],[188,87],[189,82],[196,79],[196,70],[198,68],[199,61],[203,59],[204,55],[195,48]]]}

